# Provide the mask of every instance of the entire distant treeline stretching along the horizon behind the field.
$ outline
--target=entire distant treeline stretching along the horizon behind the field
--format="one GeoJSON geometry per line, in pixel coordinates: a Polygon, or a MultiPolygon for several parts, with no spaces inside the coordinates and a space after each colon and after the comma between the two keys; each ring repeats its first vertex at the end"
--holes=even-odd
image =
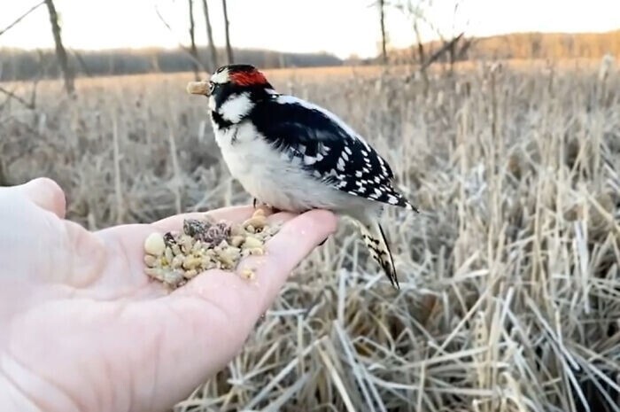
{"type": "MultiPolygon", "coordinates": [[[[428,58],[442,48],[441,42],[424,44],[428,58]]],[[[81,76],[189,72],[193,70],[192,58],[187,51],[139,49],[111,51],[68,51],[70,64],[81,76]]],[[[418,56],[416,45],[407,50],[390,52],[392,62],[412,62],[418,56]]],[[[620,30],[607,33],[517,33],[469,39],[463,37],[454,45],[456,60],[498,58],[601,58],[605,54],[620,58],[620,30]],[[466,45],[467,47],[463,47],[466,45]]],[[[225,61],[223,50],[218,51],[219,61],[225,61]]],[[[205,70],[213,65],[205,48],[198,49],[198,58],[205,70]]],[[[235,51],[237,62],[262,68],[340,66],[342,64],[373,64],[377,59],[343,60],[328,53],[288,53],[265,50],[235,51]]],[[[438,61],[446,61],[446,53],[438,61]]],[[[27,80],[59,77],[54,51],[0,50],[0,81],[27,80]]]]}

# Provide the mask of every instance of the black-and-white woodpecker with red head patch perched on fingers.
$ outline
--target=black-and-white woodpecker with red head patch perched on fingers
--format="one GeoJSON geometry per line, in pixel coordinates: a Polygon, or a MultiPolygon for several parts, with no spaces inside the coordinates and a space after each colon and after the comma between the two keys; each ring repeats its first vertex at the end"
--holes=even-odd
{"type": "Polygon", "coordinates": [[[250,65],[222,66],[188,91],[208,97],[215,140],[244,190],[284,211],[349,216],[399,288],[378,220],[386,205],[417,208],[392,186],[390,165],[358,133],[318,105],[277,93],[250,65]]]}

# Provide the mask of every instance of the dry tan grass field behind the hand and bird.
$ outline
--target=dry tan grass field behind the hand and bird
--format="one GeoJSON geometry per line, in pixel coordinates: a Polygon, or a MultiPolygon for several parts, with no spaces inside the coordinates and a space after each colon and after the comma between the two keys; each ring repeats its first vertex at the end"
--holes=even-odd
{"type": "MultiPolygon", "coordinates": [[[[403,67],[268,74],[366,136],[422,214],[384,217],[401,291],[343,222],[178,411],[620,411],[617,68],[470,65],[427,93],[403,67]]],[[[91,229],[249,202],[190,80],[41,82],[35,111],[0,107],[4,183],[56,179],[91,229]]]]}

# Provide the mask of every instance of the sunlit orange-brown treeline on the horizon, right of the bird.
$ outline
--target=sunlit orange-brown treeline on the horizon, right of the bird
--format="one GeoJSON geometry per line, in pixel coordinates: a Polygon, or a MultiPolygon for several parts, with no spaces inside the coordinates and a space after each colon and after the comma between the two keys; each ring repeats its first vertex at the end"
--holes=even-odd
{"type": "MultiPolygon", "coordinates": [[[[432,55],[442,46],[441,42],[423,45],[426,56],[432,55]]],[[[469,39],[466,35],[455,44],[456,60],[602,58],[607,53],[620,57],[620,30],[578,34],[514,33],[477,39],[469,39]],[[463,48],[463,45],[469,47],[463,48]]],[[[391,59],[400,62],[411,61],[418,58],[418,54],[417,45],[414,45],[411,49],[392,51],[391,59]]],[[[446,61],[447,58],[449,55],[446,53],[439,58],[439,61],[446,61]]]]}

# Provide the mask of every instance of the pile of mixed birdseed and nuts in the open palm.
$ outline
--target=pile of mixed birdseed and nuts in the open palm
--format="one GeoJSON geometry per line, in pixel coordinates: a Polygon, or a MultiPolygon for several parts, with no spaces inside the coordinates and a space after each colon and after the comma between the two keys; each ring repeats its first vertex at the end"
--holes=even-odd
{"type": "MultiPolygon", "coordinates": [[[[144,240],[144,273],[176,289],[205,270],[234,270],[245,256],[262,255],[265,242],[279,229],[267,224],[262,209],[241,224],[215,222],[208,215],[186,219],[182,232],[156,232],[144,240]]],[[[241,276],[252,279],[254,273],[244,269],[241,276]]]]}

